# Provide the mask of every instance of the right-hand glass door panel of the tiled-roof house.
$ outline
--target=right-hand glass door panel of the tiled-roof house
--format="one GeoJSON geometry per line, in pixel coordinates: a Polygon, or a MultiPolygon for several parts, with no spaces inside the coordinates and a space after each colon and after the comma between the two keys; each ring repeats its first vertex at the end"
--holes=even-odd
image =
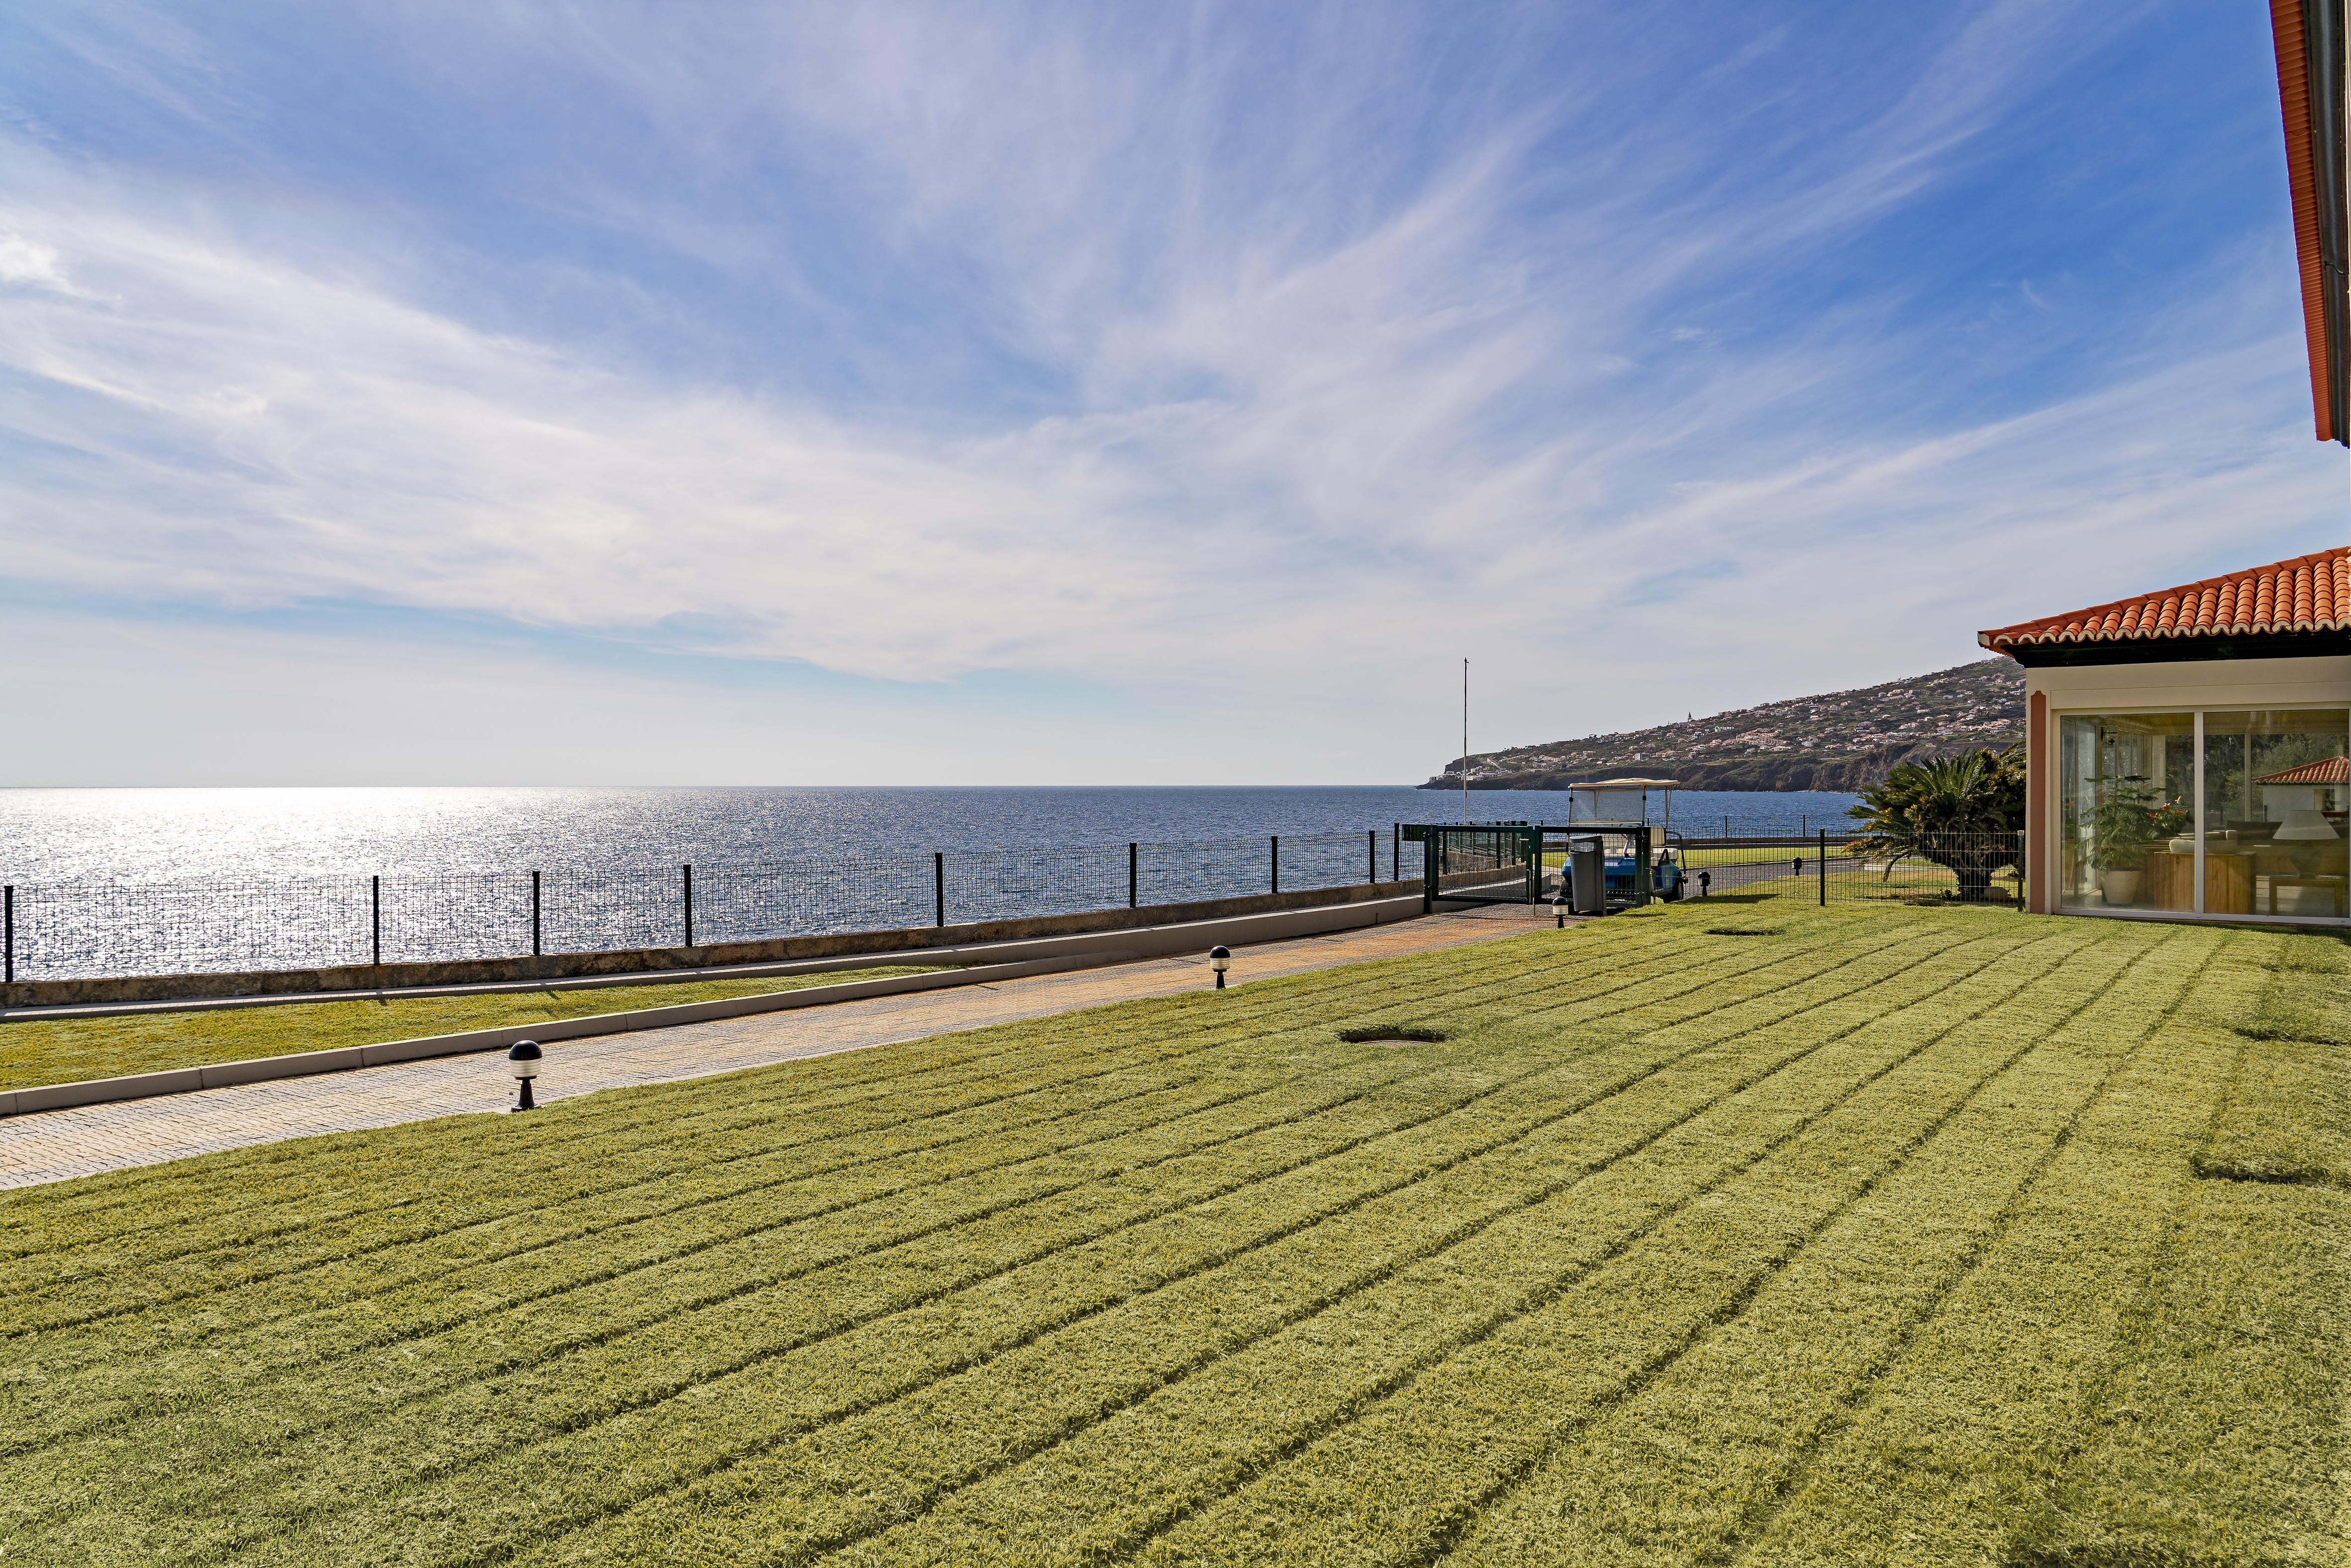
{"type": "Polygon", "coordinates": [[[2205,914],[2342,919],[2351,905],[2344,806],[2351,715],[2203,717],[2205,914]]]}

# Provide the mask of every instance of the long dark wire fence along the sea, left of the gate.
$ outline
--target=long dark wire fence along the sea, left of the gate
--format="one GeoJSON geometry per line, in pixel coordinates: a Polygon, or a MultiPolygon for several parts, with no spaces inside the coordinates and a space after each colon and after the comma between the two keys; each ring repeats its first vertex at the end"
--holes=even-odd
{"type": "Polygon", "coordinates": [[[893,931],[1420,877],[1394,830],[0,891],[7,980],[433,964],[893,931]]]}

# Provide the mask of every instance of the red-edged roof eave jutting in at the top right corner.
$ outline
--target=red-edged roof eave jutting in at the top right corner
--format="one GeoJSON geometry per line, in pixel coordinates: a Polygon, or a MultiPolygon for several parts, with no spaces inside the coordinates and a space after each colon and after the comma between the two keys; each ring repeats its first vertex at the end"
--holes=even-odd
{"type": "Polygon", "coordinates": [[[2351,299],[2346,299],[2344,24],[2346,0],[2269,0],[2278,47],[2285,176],[2295,197],[2302,329],[2318,440],[2351,444],[2351,299]]]}

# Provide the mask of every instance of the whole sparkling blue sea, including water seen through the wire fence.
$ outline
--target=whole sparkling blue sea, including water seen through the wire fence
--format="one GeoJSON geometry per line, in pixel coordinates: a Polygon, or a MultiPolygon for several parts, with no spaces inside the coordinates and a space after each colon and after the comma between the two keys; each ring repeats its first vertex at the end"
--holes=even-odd
{"type": "MultiPolygon", "coordinates": [[[[1676,795],[1674,830],[1843,825],[1850,795],[1676,795]]],[[[9,790],[19,980],[748,943],[1420,875],[1399,788],[9,790]],[[1272,842],[1279,837],[1279,846],[1272,842]],[[1133,849],[1128,849],[1133,844],[1133,849]]],[[[1566,823],[1474,790],[1469,820],[1566,823]]]]}

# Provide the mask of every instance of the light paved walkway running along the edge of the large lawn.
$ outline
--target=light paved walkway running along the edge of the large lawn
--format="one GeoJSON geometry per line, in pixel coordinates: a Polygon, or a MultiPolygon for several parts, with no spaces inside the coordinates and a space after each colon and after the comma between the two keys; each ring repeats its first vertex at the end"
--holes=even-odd
{"type": "MultiPolygon", "coordinates": [[[[1552,924],[1549,912],[1531,917],[1526,905],[1498,905],[1406,919],[1368,931],[1262,943],[1234,954],[1230,980],[1265,980],[1399,952],[1458,947],[1514,936],[1533,924],[1552,924]]],[[[548,1046],[536,1093],[541,1100],[562,1100],[625,1084],[741,1072],[802,1056],[886,1046],[1105,1001],[1166,997],[1194,990],[1206,980],[1208,966],[1197,957],[1143,959],[1112,969],[959,985],[910,997],[868,997],[790,1013],[567,1039],[548,1046]]],[[[473,1053],[5,1117],[0,1119],[0,1187],[33,1187],[280,1138],[503,1110],[513,1093],[515,1081],[505,1074],[505,1056],[473,1053]]]]}

